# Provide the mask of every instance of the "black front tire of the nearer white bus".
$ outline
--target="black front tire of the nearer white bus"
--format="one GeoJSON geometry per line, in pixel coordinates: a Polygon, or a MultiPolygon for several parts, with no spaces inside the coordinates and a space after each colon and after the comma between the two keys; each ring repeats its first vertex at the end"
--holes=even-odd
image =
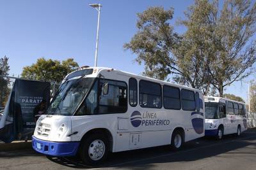
{"type": "Polygon", "coordinates": [[[84,164],[90,165],[90,166],[96,166],[101,164],[106,157],[108,156],[109,152],[109,143],[106,136],[103,134],[92,134],[81,142],[80,147],[80,158],[83,161],[84,164]],[[96,145],[93,145],[95,144],[96,145]],[[99,146],[98,146],[99,145],[99,146]],[[104,152],[102,151],[104,146],[104,152]],[[93,155],[92,150],[95,151],[95,155],[93,155]],[[89,153],[91,151],[91,153],[89,153]],[[98,151],[98,152],[97,152],[98,151]],[[102,154],[100,154],[102,152],[102,154]],[[97,156],[97,153],[99,153],[99,157],[97,156]],[[92,159],[94,157],[95,159],[92,159]]]}

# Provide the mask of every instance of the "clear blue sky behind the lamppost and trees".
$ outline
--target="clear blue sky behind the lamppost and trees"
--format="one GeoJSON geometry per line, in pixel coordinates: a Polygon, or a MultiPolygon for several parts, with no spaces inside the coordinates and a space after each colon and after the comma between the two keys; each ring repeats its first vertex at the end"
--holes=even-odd
{"type": "MultiPolygon", "coordinates": [[[[98,66],[115,67],[132,73],[141,73],[143,66],[136,57],[124,51],[136,32],[136,13],[149,6],[171,6],[177,18],[184,18],[184,10],[192,0],[8,0],[0,1],[0,57],[10,57],[10,74],[17,76],[22,67],[30,66],[39,57],[65,60],[74,58],[80,66],[93,66],[97,28],[97,11],[88,6],[101,3],[98,66]]],[[[175,25],[175,31],[184,27],[175,25]]],[[[255,79],[255,76],[247,78],[255,79]]],[[[228,87],[227,93],[246,100],[247,85],[241,82],[228,87]]]]}

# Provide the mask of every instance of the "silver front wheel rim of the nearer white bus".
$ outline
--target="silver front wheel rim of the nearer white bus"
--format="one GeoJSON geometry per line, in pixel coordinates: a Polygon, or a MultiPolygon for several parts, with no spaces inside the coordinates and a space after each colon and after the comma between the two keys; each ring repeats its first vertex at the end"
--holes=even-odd
{"type": "Polygon", "coordinates": [[[92,160],[102,159],[105,153],[106,147],[102,140],[97,139],[89,145],[88,154],[92,160]]]}

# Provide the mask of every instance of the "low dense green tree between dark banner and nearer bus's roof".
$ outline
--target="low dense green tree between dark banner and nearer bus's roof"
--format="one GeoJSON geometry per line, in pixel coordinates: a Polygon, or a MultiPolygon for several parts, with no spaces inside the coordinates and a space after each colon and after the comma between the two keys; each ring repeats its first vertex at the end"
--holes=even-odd
{"type": "Polygon", "coordinates": [[[30,80],[60,83],[68,73],[75,71],[77,67],[79,66],[74,59],[67,59],[60,62],[58,60],[40,58],[36,61],[36,64],[24,67],[21,76],[30,80]]]}

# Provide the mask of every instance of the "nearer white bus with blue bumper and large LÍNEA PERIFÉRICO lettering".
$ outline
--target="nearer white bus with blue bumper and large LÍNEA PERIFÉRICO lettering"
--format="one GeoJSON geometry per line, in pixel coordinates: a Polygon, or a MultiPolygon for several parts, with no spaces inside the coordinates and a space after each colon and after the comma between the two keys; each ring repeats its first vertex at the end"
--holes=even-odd
{"type": "Polygon", "coordinates": [[[98,164],[108,152],[182,144],[204,136],[202,91],[104,67],[68,74],[36,122],[33,148],[79,154],[98,164]]]}

